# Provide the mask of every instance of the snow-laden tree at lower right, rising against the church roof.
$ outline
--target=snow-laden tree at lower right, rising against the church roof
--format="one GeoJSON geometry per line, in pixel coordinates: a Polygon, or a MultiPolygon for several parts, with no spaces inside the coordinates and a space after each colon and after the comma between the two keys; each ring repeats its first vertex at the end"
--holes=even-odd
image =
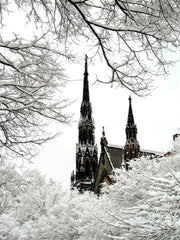
{"type": "Polygon", "coordinates": [[[132,170],[117,171],[116,183],[83,215],[79,239],[178,240],[180,140],[175,145],[169,157],[143,158],[132,170]]]}

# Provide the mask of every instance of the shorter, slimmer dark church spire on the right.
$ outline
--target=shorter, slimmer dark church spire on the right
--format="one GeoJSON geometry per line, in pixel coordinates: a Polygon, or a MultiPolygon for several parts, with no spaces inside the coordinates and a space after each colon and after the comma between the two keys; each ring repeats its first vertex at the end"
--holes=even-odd
{"type": "Polygon", "coordinates": [[[134,116],[131,105],[131,96],[129,97],[129,112],[126,125],[126,144],[124,147],[124,162],[125,167],[129,169],[129,161],[133,158],[138,158],[140,146],[137,141],[137,127],[134,123],[134,116]]]}

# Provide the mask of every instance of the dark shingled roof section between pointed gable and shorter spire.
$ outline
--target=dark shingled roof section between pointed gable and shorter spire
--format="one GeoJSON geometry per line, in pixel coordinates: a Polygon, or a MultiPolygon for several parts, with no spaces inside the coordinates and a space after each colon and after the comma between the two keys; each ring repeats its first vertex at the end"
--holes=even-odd
{"type": "Polygon", "coordinates": [[[122,147],[107,146],[110,160],[114,168],[120,168],[123,160],[124,149],[122,147]]]}

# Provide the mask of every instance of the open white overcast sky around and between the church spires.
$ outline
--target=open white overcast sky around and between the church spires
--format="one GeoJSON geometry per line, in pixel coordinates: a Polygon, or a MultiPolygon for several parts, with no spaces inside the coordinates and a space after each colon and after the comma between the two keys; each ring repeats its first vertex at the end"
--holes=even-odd
{"type": "MultiPolygon", "coordinates": [[[[138,128],[138,140],[141,148],[156,151],[169,151],[172,148],[172,135],[180,127],[180,63],[169,69],[169,76],[157,78],[158,88],[151,96],[140,98],[122,88],[111,88],[103,84],[93,84],[96,74],[106,77],[104,69],[89,65],[90,99],[95,121],[96,143],[100,153],[100,137],[102,126],[105,127],[108,142],[115,145],[125,144],[125,126],[128,114],[128,96],[132,96],[132,107],[135,123],[138,128]]],[[[46,144],[33,167],[61,181],[69,187],[70,174],[75,169],[75,148],[78,141],[78,120],[82,100],[82,84],[84,61],[81,65],[71,66],[69,78],[71,81],[65,95],[76,102],[69,111],[74,113],[71,126],[63,127],[63,133],[57,139],[46,144]]],[[[62,126],[59,125],[59,128],[62,126]]]]}

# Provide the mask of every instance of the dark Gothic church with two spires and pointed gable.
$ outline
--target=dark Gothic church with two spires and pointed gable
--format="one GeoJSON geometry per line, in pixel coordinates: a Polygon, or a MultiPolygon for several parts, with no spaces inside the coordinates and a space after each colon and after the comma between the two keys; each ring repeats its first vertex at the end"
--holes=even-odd
{"type": "Polygon", "coordinates": [[[76,144],[76,170],[71,174],[71,189],[80,192],[93,191],[100,193],[103,183],[112,184],[109,177],[115,168],[129,170],[130,160],[141,156],[150,159],[158,156],[155,152],[141,151],[137,140],[137,127],[134,121],[132,99],[129,97],[129,112],[126,124],[126,143],[124,147],[108,143],[105,130],[102,130],[101,152],[98,161],[98,148],[95,143],[95,124],[92,117],[92,106],[89,94],[88,63],[85,58],[83,96],[78,124],[78,143],[76,144]]]}

